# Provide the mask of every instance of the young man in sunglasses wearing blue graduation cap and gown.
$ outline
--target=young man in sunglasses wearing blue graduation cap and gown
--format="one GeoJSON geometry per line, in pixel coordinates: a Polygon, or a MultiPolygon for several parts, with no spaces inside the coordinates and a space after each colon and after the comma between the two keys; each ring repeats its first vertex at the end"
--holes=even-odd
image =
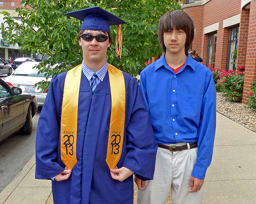
{"type": "Polygon", "coordinates": [[[153,178],[157,145],[139,84],[106,61],[109,25],[125,22],[99,7],[67,15],[83,20],[83,62],[52,79],[35,178],[52,179],[54,204],[132,204],[132,175],[153,178]]]}

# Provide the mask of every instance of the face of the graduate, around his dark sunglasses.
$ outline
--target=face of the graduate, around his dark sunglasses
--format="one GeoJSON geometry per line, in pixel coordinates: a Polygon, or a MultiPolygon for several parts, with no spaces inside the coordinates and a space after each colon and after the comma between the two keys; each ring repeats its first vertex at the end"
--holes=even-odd
{"type": "MultiPolygon", "coordinates": [[[[83,33],[91,35],[106,35],[102,31],[90,31],[85,30],[83,33]]],[[[107,35],[108,36],[108,35],[107,35]]],[[[82,38],[79,40],[79,45],[83,50],[83,62],[84,64],[105,64],[108,47],[110,46],[109,40],[104,42],[98,42],[95,38],[91,41],[85,41],[82,38]]]]}

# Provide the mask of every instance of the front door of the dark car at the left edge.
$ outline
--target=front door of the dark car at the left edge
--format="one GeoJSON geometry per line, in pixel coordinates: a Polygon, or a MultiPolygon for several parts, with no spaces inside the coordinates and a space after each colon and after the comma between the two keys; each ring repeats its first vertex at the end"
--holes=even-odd
{"type": "Polygon", "coordinates": [[[2,130],[0,140],[22,127],[24,118],[24,97],[13,95],[10,87],[0,81],[0,110],[2,130]]]}

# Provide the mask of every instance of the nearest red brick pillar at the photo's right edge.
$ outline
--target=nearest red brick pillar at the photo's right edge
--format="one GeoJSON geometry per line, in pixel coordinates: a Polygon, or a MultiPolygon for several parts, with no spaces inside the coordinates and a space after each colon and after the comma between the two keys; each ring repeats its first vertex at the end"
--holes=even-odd
{"type": "Polygon", "coordinates": [[[247,52],[245,62],[245,81],[243,86],[243,103],[250,91],[250,82],[256,78],[256,0],[250,2],[250,17],[248,27],[247,52]]]}

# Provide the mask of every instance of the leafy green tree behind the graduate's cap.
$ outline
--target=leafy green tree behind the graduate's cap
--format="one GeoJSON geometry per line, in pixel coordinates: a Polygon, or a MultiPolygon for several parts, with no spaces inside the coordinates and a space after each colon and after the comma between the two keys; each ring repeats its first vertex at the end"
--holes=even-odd
{"type": "MultiPolygon", "coordinates": [[[[47,78],[67,71],[82,61],[82,51],[76,40],[82,22],[65,13],[100,6],[125,20],[127,24],[122,25],[122,60],[118,61],[115,57],[114,43],[108,51],[108,62],[133,76],[137,75],[139,68],[145,67],[144,63],[150,57],[162,53],[157,35],[160,16],[167,11],[181,9],[178,0],[22,0],[22,4],[26,8],[16,9],[24,18],[21,24],[14,22],[9,13],[2,12],[8,24],[6,28],[1,28],[6,36],[4,39],[32,53],[39,51],[50,55],[39,65],[40,71],[47,73],[47,78]],[[46,66],[56,63],[59,66],[46,66]]],[[[116,27],[111,26],[113,38],[115,33],[116,27]]]]}

